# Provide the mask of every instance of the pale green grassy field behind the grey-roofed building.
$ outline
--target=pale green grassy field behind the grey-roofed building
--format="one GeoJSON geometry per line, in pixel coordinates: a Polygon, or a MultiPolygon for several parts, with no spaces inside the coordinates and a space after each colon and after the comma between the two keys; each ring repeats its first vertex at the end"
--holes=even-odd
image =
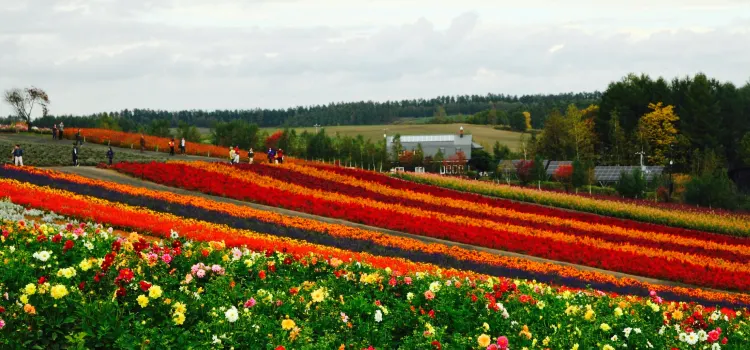
{"type": "MultiPolygon", "coordinates": [[[[346,125],[346,126],[327,126],[326,133],[334,135],[357,136],[362,135],[367,139],[377,141],[383,137],[383,133],[388,135],[431,135],[431,134],[458,134],[458,129],[463,126],[464,133],[472,134],[475,142],[484,146],[485,149],[492,149],[495,141],[507,145],[512,150],[518,150],[521,134],[518,132],[495,130],[487,125],[470,125],[470,124],[391,124],[391,125],[346,125]]],[[[307,131],[315,132],[314,127],[295,128],[297,132],[307,131]]],[[[278,128],[263,128],[263,130],[273,132],[278,128]]]]}

